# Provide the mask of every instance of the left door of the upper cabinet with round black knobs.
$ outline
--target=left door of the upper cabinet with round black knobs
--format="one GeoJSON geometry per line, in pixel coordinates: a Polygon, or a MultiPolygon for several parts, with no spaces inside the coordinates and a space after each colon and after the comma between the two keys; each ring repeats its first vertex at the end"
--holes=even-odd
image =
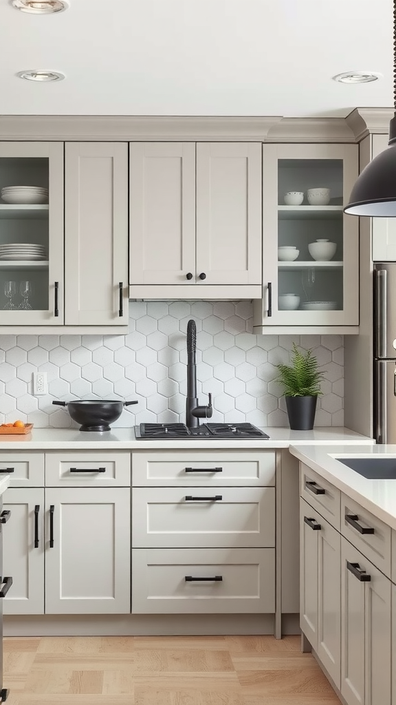
{"type": "Polygon", "coordinates": [[[133,142],[130,284],[189,281],[195,281],[194,142],[133,142]]]}

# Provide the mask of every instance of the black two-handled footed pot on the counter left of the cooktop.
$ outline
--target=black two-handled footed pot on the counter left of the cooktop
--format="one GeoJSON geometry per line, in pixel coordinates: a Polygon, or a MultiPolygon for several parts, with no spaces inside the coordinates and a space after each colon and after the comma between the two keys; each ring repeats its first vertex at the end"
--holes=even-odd
{"type": "Polygon", "coordinates": [[[67,406],[73,421],[82,424],[80,431],[110,431],[109,424],[116,421],[124,406],[137,401],[53,401],[57,406],[67,406]]]}

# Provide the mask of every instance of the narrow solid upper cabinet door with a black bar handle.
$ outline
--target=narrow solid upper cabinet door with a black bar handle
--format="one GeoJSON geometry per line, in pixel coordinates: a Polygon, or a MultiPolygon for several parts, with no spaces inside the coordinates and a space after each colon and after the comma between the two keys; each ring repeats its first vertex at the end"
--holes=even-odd
{"type": "Polygon", "coordinates": [[[128,146],[68,142],[65,323],[128,324],[128,146]]]}

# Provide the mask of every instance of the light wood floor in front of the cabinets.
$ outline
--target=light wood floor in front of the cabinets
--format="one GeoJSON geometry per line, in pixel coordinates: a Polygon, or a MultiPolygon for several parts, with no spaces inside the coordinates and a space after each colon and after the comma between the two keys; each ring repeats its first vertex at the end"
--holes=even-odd
{"type": "Polygon", "coordinates": [[[7,705],[339,705],[299,637],[4,639],[7,705]]]}

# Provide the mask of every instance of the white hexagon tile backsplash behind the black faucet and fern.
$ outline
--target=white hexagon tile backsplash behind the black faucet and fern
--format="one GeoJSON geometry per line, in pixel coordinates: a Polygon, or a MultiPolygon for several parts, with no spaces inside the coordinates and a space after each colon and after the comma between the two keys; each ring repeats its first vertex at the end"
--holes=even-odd
{"type": "Polygon", "coordinates": [[[0,336],[0,419],[37,427],[77,427],[63,399],[137,399],[113,426],[185,420],[186,329],[197,324],[200,403],[213,394],[212,421],[287,426],[276,364],[295,341],[326,374],[316,426],[342,426],[342,336],[256,336],[252,303],[130,302],[127,336],[0,336]],[[48,394],[32,395],[32,373],[47,372],[48,394]]]}

